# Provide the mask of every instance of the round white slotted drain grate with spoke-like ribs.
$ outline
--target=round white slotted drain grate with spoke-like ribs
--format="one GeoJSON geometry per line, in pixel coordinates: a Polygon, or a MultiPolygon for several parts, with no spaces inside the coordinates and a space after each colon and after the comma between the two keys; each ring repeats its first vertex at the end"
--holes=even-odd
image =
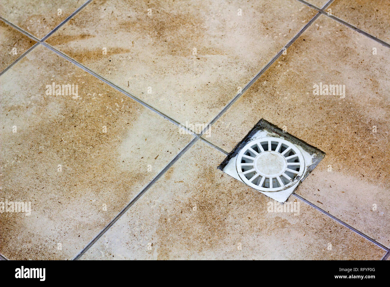
{"type": "Polygon", "coordinates": [[[240,150],[236,167],[239,177],[250,187],[276,192],[299,181],[305,161],[293,143],[277,137],[262,137],[240,150]]]}

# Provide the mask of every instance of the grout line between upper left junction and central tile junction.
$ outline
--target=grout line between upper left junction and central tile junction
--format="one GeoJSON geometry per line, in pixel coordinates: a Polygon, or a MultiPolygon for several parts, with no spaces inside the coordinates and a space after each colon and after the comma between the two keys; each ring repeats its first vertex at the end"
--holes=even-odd
{"type": "Polygon", "coordinates": [[[135,100],[136,102],[140,103],[141,105],[147,107],[148,109],[152,110],[153,112],[155,112],[156,114],[159,114],[160,116],[162,116],[163,118],[167,119],[168,121],[174,123],[175,125],[179,126],[180,128],[183,128],[184,130],[188,131],[190,134],[192,135],[195,135],[197,136],[197,134],[195,132],[193,132],[192,130],[190,130],[188,127],[185,127],[184,125],[182,125],[181,123],[179,123],[178,121],[176,121],[175,119],[172,119],[170,116],[167,116],[166,114],[164,114],[163,112],[160,112],[158,111],[157,109],[155,109],[154,107],[152,107],[151,105],[145,103],[144,101],[138,99],[136,96],[133,96],[132,94],[130,94],[129,92],[125,91],[124,89],[122,89],[121,87],[115,85],[114,83],[112,83],[111,81],[109,80],[106,80],[105,78],[103,78],[102,76],[98,75],[97,73],[95,73],[94,71],[90,70],[89,68],[85,67],[83,64],[80,64],[79,62],[77,62],[76,60],[72,59],[71,57],[65,55],[64,53],[58,51],[57,49],[53,48],[52,46],[50,46],[49,44],[47,43],[44,43],[44,42],[41,42],[41,44],[43,46],[45,46],[46,48],[50,49],[51,51],[57,53],[58,55],[60,55],[61,57],[65,58],[67,61],[75,64],[76,66],[78,66],[79,68],[83,69],[84,71],[86,71],[87,73],[90,73],[91,75],[93,75],[94,77],[98,78],[99,80],[105,82],[106,84],[108,84],[109,86],[113,87],[114,89],[116,89],[117,91],[120,91],[121,93],[125,94],[126,96],[128,96],[129,98],[135,100]]]}

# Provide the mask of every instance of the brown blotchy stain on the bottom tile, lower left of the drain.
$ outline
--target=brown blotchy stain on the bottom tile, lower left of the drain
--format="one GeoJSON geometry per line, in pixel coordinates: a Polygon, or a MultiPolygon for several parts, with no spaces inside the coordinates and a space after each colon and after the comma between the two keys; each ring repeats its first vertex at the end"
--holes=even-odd
{"type": "MultiPolygon", "coordinates": [[[[220,185],[216,178],[215,167],[202,167],[199,173],[205,179],[206,185],[200,187],[197,193],[191,194],[178,207],[175,207],[176,212],[172,210],[165,212],[158,220],[156,236],[161,238],[156,243],[158,259],[169,259],[170,252],[175,250],[172,242],[167,239],[176,238],[175,241],[180,241],[187,249],[201,252],[203,248],[199,242],[203,242],[208,248],[219,248],[220,241],[224,241],[228,235],[229,223],[225,219],[229,217],[229,210],[226,207],[233,201],[232,193],[229,192],[226,197],[219,198],[215,196],[215,190],[210,189],[210,187],[215,188],[220,185]],[[197,212],[192,212],[193,209],[197,212]],[[219,210],[218,216],[215,214],[216,210],[219,210]],[[194,233],[194,228],[202,232],[194,233]]],[[[191,192],[188,191],[190,186],[185,184],[188,181],[181,178],[174,179],[182,182],[178,190],[185,189],[191,192]]]]}

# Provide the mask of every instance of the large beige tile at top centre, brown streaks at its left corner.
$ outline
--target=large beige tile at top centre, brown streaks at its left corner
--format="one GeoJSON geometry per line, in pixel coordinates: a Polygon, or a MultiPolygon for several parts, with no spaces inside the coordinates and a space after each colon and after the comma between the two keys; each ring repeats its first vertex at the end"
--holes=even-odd
{"type": "Polygon", "coordinates": [[[97,0],[47,42],[184,125],[200,125],[315,14],[296,0],[97,0]]]}

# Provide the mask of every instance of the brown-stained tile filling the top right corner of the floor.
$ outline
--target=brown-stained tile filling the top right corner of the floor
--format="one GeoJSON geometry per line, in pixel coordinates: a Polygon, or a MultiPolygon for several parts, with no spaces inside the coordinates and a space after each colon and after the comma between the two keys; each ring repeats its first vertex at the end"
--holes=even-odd
{"type": "Polygon", "coordinates": [[[390,44],[390,1],[335,0],[329,8],[334,16],[390,44]]]}

